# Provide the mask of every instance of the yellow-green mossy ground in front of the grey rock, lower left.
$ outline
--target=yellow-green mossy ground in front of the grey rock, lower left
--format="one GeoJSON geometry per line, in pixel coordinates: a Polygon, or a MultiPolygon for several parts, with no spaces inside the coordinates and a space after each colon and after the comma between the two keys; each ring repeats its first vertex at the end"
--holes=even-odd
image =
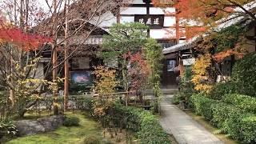
{"type": "Polygon", "coordinates": [[[96,135],[102,138],[102,129],[97,122],[86,118],[82,114],[71,114],[80,118],[80,126],[66,127],[61,126],[57,130],[46,134],[35,134],[31,136],[15,138],[8,144],[63,144],[63,143],[76,143],[82,141],[83,138],[89,135],[96,135]]]}

